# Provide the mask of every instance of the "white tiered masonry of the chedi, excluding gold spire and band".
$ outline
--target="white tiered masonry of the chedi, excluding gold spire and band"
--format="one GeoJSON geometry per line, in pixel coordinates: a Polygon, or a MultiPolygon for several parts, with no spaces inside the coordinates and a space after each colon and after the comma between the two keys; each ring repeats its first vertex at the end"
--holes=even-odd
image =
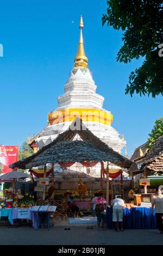
{"type": "MultiPolygon", "coordinates": [[[[103,109],[104,97],[96,94],[96,88],[97,86],[92,79],[92,75],[89,69],[85,69],[85,72],[77,69],[75,74],[73,71],[71,71],[70,78],[65,84],[65,94],[58,97],[59,107],[55,110],[59,111],[63,108],[94,108],[106,111],[103,109]]],[[[109,111],[106,112],[110,113],[109,111]]],[[[83,121],[83,123],[89,130],[91,130],[94,135],[108,144],[109,147],[118,153],[121,153],[122,148],[126,145],[126,141],[120,138],[120,134],[118,131],[116,131],[116,129],[96,121],[83,121]]],[[[37,138],[39,149],[52,142],[59,133],[66,131],[70,124],[70,121],[66,121],[64,123],[48,125],[40,133],[40,137],[37,138]]],[[[69,169],[73,171],[78,170],[76,164],[73,164],[73,166],[69,169]]],[[[83,168],[82,170],[86,172],[86,168],[83,168]]],[[[95,176],[100,176],[100,170],[101,164],[97,164],[95,176]]],[[[56,164],[55,171],[62,172],[59,164],[56,164]]]]}

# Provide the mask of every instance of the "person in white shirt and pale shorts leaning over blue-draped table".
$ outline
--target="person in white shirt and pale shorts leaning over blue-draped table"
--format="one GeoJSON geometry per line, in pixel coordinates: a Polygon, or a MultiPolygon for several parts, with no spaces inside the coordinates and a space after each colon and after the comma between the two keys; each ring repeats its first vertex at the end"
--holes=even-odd
{"type": "Polygon", "coordinates": [[[112,206],[112,221],[116,224],[116,231],[124,231],[123,229],[123,209],[124,201],[118,196],[111,203],[112,206]],[[121,224],[121,229],[119,229],[119,223],[121,224]]]}

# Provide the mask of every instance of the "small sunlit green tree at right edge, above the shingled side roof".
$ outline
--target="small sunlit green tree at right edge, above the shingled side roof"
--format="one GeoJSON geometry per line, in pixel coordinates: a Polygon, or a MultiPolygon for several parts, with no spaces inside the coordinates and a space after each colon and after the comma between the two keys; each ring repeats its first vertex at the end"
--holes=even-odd
{"type": "Polygon", "coordinates": [[[149,133],[149,138],[148,138],[149,147],[148,148],[152,148],[156,139],[158,139],[162,135],[163,135],[163,117],[161,117],[160,119],[156,119],[153,129],[152,129],[151,133],[149,133]]]}

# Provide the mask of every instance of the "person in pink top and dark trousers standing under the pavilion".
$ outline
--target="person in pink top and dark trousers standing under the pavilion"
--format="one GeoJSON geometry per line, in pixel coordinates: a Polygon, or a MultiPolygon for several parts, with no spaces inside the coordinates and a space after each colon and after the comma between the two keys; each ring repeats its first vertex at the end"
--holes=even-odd
{"type": "Polygon", "coordinates": [[[97,199],[95,200],[95,204],[96,204],[96,216],[97,216],[97,226],[100,228],[100,223],[102,222],[102,228],[104,228],[104,224],[105,222],[102,221],[102,211],[105,210],[105,205],[107,204],[106,203],[106,200],[105,198],[103,198],[103,194],[102,193],[98,193],[98,197],[97,199]]]}

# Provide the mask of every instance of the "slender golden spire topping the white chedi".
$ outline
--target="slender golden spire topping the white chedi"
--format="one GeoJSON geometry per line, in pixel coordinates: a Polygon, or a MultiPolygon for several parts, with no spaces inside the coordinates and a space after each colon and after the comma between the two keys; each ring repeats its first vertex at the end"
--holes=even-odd
{"type": "Polygon", "coordinates": [[[84,28],[83,25],[83,17],[80,17],[80,39],[79,39],[79,46],[78,46],[78,53],[76,58],[74,59],[74,68],[87,68],[87,57],[85,56],[84,52],[84,43],[83,43],[83,35],[82,29],[84,28]]]}

